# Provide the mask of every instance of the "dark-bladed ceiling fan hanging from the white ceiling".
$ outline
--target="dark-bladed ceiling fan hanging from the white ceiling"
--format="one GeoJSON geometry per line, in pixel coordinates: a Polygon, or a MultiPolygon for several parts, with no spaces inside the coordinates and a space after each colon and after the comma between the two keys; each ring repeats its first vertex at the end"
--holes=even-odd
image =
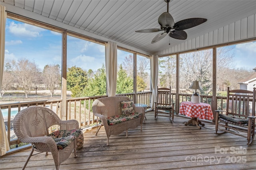
{"type": "Polygon", "coordinates": [[[151,41],[152,44],[163,39],[168,33],[170,37],[175,39],[187,39],[188,35],[185,31],[183,31],[184,29],[195,27],[207,21],[207,19],[205,18],[188,18],[174,23],[174,19],[168,12],[170,0],[164,0],[164,2],[167,3],[167,12],[162,13],[158,17],[158,23],[161,26],[160,29],[152,28],[135,31],[138,33],[153,33],[158,31],[164,31],[163,33],[160,33],[154,37],[154,39],[151,41]]]}

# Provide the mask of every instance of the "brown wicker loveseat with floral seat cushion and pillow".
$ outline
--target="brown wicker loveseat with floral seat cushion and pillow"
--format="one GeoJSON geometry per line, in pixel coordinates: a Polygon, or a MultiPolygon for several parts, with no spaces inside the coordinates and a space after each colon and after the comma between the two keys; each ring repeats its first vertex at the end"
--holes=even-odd
{"type": "Polygon", "coordinates": [[[139,125],[140,131],[142,131],[142,115],[144,115],[145,110],[143,107],[134,106],[131,99],[127,96],[99,98],[93,102],[92,111],[95,116],[99,117],[102,125],[104,125],[108,141],[111,135],[119,135],[123,131],[126,131],[126,137],[128,137],[128,129],[135,129],[139,125]],[[130,104],[135,112],[128,113],[128,110],[125,111],[123,108],[127,104],[130,104]]]}

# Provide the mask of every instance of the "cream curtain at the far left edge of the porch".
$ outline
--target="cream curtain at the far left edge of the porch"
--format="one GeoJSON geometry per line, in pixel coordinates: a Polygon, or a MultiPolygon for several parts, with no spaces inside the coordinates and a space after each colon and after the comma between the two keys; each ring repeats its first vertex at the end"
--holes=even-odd
{"type": "MultiPolygon", "coordinates": [[[[0,5],[0,90],[4,72],[4,43],[5,43],[5,23],[6,23],[5,6],[0,5]]],[[[10,149],[7,134],[5,131],[4,117],[0,108],[0,156],[6,154],[10,149]]]]}

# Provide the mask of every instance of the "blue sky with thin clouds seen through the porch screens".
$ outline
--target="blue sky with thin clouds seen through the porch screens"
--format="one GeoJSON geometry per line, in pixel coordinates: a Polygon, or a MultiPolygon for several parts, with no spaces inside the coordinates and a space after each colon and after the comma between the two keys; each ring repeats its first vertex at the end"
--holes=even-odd
{"type": "MultiPolygon", "coordinates": [[[[61,66],[61,38],[60,33],[7,19],[5,62],[28,59],[35,61],[40,69],[46,64],[61,66]]],[[[105,63],[104,45],[71,36],[68,36],[67,42],[68,67],[76,65],[95,71],[105,63]]],[[[256,67],[256,42],[235,45],[233,53],[236,68],[252,70],[256,67]]],[[[118,50],[118,64],[130,54],[118,50]]]]}

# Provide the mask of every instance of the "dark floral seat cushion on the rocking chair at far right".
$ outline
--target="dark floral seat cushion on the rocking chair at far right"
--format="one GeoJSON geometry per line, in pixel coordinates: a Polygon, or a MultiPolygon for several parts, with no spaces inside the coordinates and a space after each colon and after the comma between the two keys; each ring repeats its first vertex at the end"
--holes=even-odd
{"type": "Polygon", "coordinates": [[[248,119],[236,117],[236,116],[232,116],[232,115],[219,114],[219,120],[226,122],[226,123],[233,124],[233,125],[248,126],[248,119]]]}

